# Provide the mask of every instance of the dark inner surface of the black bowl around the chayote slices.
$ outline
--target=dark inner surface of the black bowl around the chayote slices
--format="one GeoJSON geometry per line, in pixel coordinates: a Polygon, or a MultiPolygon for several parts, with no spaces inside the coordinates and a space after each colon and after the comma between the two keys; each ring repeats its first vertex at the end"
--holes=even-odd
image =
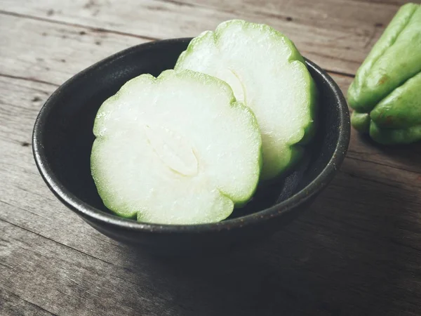
{"type": "MultiPolygon", "coordinates": [[[[42,119],[36,124],[45,163],[60,186],[98,211],[111,213],[102,204],[91,177],[95,114],[102,102],[129,79],[144,73],[157,76],[173,68],[188,43],[189,39],[178,39],[135,46],[77,74],[51,96],[41,110],[42,119]]],[[[314,140],[306,146],[305,157],[293,170],[259,187],[252,201],[245,208],[234,210],[230,218],[262,211],[288,199],[312,182],[333,156],[343,108],[332,82],[328,82],[314,64],[307,65],[319,90],[318,128],[314,140]]]]}

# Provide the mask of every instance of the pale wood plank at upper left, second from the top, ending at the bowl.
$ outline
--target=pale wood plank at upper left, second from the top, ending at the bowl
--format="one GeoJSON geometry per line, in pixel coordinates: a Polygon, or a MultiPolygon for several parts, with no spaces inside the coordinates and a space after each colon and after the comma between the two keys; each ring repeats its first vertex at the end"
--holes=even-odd
{"type": "Polygon", "coordinates": [[[149,40],[1,15],[1,74],[62,84],[77,72],[149,40]],[[13,27],[11,27],[13,25],[13,27]]]}

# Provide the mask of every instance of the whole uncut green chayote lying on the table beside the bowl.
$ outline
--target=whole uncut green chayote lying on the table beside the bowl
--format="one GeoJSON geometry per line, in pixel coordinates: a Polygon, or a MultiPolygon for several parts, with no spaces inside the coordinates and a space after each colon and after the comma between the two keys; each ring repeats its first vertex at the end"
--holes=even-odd
{"type": "Polygon", "coordinates": [[[349,86],[352,126],[385,145],[421,140],[421,5],[399,8],[349,86]]]}

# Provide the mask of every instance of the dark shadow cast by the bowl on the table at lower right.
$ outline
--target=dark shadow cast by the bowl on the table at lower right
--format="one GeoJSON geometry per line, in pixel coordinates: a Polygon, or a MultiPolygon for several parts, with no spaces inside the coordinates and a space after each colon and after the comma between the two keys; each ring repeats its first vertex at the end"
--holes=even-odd
{"type": "Polygon", "coordinates": [[[196,258],[130,249],[131,264],[149,267],[172,315],[395,315],[417,304],[403,285],[420,272],[403,229],[415,209],[402,190],[373,184],[376,176],[346,159],[312,210],[266,242],[196,258]]]}

